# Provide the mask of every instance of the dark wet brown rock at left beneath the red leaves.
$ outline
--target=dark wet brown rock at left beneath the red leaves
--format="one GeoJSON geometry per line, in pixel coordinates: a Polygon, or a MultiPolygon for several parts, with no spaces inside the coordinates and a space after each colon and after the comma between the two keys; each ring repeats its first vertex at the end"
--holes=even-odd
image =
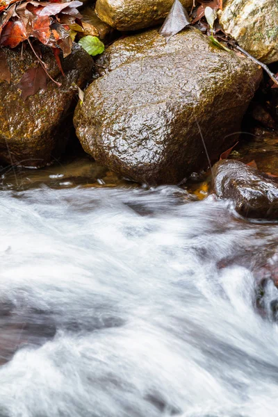
{"type": "Polygon", "coordinates": [[[58,87],[49,81],[41,90],[25,101],[20,97],[17,83],[28,68],[38,65],[30,49],[1,48],[8,59],[12,81],[0,84],[0,161],[9,165],[39,167],[51,161],[65,147],[71,121],[67,120],[71,105],[76,102],[76,87],[90,79],[92,59],[78,44],[72,54],[62,60],[65,77],[60,74],[54,55],[44,48],[44,62],[49,74],[62,83],[58,87]]]}

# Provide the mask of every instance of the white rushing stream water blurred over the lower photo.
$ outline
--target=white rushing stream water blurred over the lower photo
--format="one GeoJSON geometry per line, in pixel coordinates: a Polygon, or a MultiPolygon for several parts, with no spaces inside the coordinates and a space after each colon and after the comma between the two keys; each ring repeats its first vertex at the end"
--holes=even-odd
{"type": "Polygon", "coordinates": [[[278,416],[278,224],[46,176],[2,177],[0,416],[278,416]]]}

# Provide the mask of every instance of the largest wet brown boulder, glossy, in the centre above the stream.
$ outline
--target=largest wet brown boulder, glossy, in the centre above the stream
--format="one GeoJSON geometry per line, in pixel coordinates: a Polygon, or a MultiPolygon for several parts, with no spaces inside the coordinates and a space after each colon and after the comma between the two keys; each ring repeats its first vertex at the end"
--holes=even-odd
{"type": "Polygon", "coordinates": [[[97,60],[74,124],[85,152],[143,183],[179,183],[217,159],[236,132],[261,70],[196,29],[167,44],[156,30],[114,42],[97,60]],[[199,124],[199,126],[198,126],[199,124]]]}

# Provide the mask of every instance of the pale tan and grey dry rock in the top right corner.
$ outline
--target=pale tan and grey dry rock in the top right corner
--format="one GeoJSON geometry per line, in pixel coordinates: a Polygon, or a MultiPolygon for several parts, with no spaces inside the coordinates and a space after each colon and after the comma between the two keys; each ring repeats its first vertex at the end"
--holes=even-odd
{"type": "Polygon", "coordinates": [[[220,24],[255,58],[268,64],[278,60],[277,0],[224,0],[220,24]]]}

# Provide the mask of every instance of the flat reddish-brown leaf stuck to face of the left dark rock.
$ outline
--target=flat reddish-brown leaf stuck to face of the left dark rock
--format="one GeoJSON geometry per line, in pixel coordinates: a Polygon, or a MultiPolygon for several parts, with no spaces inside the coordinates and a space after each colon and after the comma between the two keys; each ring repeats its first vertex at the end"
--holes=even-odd
{"type": "Polygon", "coordinates": [[[27,70],[22,79],[17,84],[17,88],[22,90],[22,99],[26,100],[28,96],[34,95],[39,90],[47,89],[47,74],[41,65],[27,70]]]}

